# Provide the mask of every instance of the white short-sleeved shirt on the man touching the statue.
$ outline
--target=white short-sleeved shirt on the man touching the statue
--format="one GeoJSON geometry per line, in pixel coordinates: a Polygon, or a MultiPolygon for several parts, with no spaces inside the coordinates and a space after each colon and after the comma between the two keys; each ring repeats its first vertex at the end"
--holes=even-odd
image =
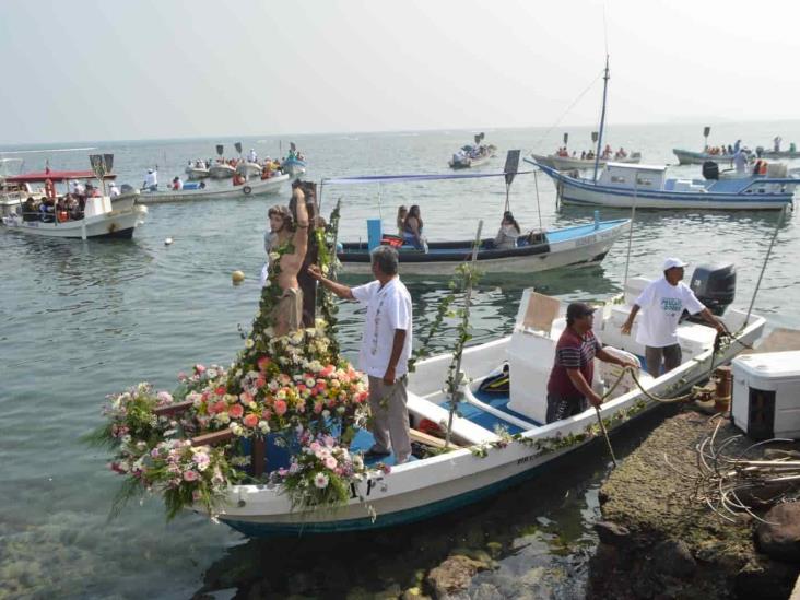
{"type": "Polygon", "coordinates": [[[397,377],[405,375],[411,356],[411,294],[399,278],[380,287],[379,281],[353,287],[353,297],[367,308],[364,334],[358,352],[358,368],[373,377],[383,377],[391,357],[395,330],[405,331],[405,343],[395,367],[397,377]]]}

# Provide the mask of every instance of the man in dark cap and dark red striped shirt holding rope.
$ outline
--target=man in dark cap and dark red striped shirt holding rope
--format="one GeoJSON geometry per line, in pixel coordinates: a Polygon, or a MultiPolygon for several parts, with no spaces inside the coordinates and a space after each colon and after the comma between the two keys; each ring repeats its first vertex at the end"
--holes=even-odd
{"type": "Polygon", "coordinates": [[[548,423],[584,412],[587,400],[599,407],[602,399],[591,389],[595,357],[626,366],[627,363],[605,352],[591,331],[595,309],[583,302],[567,307],[567,328],[555,345],[555,363],[548,381],[548,423]]]}

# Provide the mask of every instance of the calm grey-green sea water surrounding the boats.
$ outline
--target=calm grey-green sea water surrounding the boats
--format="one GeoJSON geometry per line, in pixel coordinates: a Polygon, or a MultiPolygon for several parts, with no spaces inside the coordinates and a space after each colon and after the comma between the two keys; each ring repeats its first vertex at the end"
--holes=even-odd
{"type": "MultiPolygon", "coordinates": [[[[648,163],[673,160],[673,146],[697,148],[702,126],[610,128],[614,145],[640,150],[648,163]]],[[[570,129],[570,146],[589,145],[588,129],[570,129]]],[[[715,127],[711,143],[737,138],[767,145],[775,134],[800,142],[800,122],[715,127]]],[[[562,129],[486,130],[486,142],[505,151],[550,151],[562,129]]],[[[294,141],[307,154],[308,178],[377,173],[446,170],[449,155],[471,132],[305,136],[294,141]]],[[[233,142],[222,140],[233,152],[233,142]]],[[[245,151],[277,155],[272,138],[242,140],[245,151]]],[[[86,151],[116,155],[119,180],[141,184],[158,165],[162,184],[183,173],[189,158],[209,157],[221,140],[78,143],[4,148],[0,154],[25,160],[27,170],[45,160],[54,168],[85,168],[86,151]],[[3,154],[25,150],[22,154],[3,154]]],[[[283,142],[285,152],[287,143],[283,142]]],[[[503,158],[494,169],[499,170],[503,158]]],[[[489,167],[487,167],[489,168],[489,167]]],[[[698,167],[681,167],[692,176],[698,167]]],[[[226,527],[183,516],[165,523],[155,498],[131,505],[106,520],[119,480],[106,457],[78,438],[99,423],[105,395],[140,380],[170,389],[181,369],[196,362],[227,364],[239,350],[237,325],[247,327],[258,302],[266,209],[279,197],[247,201],[156,205],[132,242],[82,243],[35,238],[0,230],[0,598],[96,597],[187,598],[196,592],[352,597],[413,585],[456,548],[485,549],[499,558],[496,572],[474,586],[494,586],[506,596],[579,597],[586,557],[595,536],[597,489],[608,464],[602,451],[580,452],[553,472],[501,497],[403,531],[248,541],[226,527]],[[166,237],[174,238],[165,246],[166,237]],[[231,272],[247,274],[231,285],[231,272]]],[[[287,189],[281,198],[287,198],[287,189]]],[[[505,188],[501,180],[426,185],[330,187],[323,212],[342,199],[342,239],[365,237],[364,220],[381,215],[393,227],[400,203],[419,203],[428,237],[469,237],[478,220],[496,230],[505,188]]],[[[556,211],[549,179],[520,176],[511,208],[523,227],[586,222],[592,211],[556,211]],[[537,192],[538,185],[538,192],[537,192]],[[541,208],[539,213],[538,208],[541,208]]],[[[608,211],[602,217],[626,216],[608,211]]],[[[739,273],[739,304],[748,304],[777,216],[757,213],[686,214],[639,212],[633,235],[631,275],[658,272],[667,255],[693,263],[729,260],[739,273]]],[[[477,341],[508,332],[523,287],[564,299],[603,299],[621,289],[626,243],[601,267],[516,279],[484,279],[473,311],[477,341]]],[[[756,301],[772,327],[800,328],[800,235],[796,217],[783,225],[756,301]]],[[[424,330],[444,295],[442,280],[407,281],[414,298],[417,331],[424,330]]],[[[354,357],[361,316],[342,315],[342,342],[354,357]]],[[[445,331],[438,349],[450,345],[445,331]]],[[[633,445],[646,430],[628,432],[633,445]]]]}

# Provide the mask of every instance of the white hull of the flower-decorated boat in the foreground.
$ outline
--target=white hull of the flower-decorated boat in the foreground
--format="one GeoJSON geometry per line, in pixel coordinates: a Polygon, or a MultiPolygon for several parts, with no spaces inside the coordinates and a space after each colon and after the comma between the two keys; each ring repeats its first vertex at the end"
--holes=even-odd
{"type": "MultiPolygon", "coordinates": [[[[744,314],[734,313],[742,323],[744,314]]],[[[738,339],[743,344],[751,344],[761,336],[764,323],[763,318],[751,317],[750,325],[742,327],[738,339]]],[[[486,364],[499,364],[498,358],[506,355],[509,343],[510,338],[505,338],[467,349],[462,356],[464,372],[474,374],[479,365],[485,372],[486,364]]],[[[740,343],[731,343],[716,355],[707,350],[651,380],[648,390],[671,397],[683,393],[707,378],[713,365],[729,362],[742,348],[740,343]]],[[[450,356],[443,355],[420,363],[410,379],[410,390],[420,396],[434,392],[446,376],[449,362],[450,356]]],[[[621,421],[610,421],[610,417],[643,402],[644,408],[636,416],[660,405],[647,401],[638,389],[634,389],[605,402],[600,412],[613,432],[621,421]]],[[[356,496],[336,511],[292,511],[289,498],[277,487],[234,486],[225,510],[216,517],[251,537],[378,529],[413,522],[477,502],[550,468],[562,456],[591,442],[592,436],[585,434],[596,420],[595,410],[589,409],[564,421],[523,432],[521,435],[528,444],[511,442],[490,449],[483,457],[464,448],[395,467],[387,475],[372,474],[357,490],[364,502],[356,496]],[[548,440],[552,443],[570,435],[584,437],[573,445],[551,446],[551,451],[542,451],[534,445],[540,442],[546,446],[548,440]],[[370,517],[368,508],[375,511],[376,518],[370,517]]]]}

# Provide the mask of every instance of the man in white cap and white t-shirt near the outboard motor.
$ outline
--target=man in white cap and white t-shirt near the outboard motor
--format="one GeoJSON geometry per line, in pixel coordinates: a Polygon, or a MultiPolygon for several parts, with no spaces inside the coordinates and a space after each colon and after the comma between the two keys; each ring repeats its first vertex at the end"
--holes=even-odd
{"type": "Polygon", "coordinates": [[[692,289],[681,281],[686,264],[679,258],[664,260],[663,278],[644,289],[622,326],[622,332],[630,334],[636,314],[640,308],[645,309],[639,319],[636,341],[645,346],[647,372],[654,377],[661,375],[662,361],[664,373],[681,364],[678,322],[684,310],[691,315],[699,313],[718,332],[725,331],[722,322],[711,315],[711,311],[697,299],[692,289]]]}

